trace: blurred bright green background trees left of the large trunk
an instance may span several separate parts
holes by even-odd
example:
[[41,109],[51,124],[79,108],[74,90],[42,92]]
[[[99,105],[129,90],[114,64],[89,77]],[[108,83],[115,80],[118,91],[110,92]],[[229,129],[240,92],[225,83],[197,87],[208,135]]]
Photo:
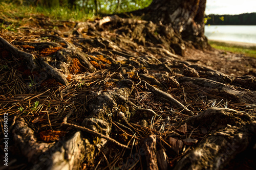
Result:
[[67,7],[69,9],[82,9],[88,13],[111,14],[145,8],[151,4],[152,0],[0,0],[0,2],[18,3],[44,8]]

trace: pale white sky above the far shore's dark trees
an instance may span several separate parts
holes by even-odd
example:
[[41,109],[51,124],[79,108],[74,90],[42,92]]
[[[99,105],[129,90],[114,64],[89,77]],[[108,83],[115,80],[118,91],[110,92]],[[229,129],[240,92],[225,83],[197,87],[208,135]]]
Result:
[[242,14],[256,12],[255,0],[207,0],[205,14]]

